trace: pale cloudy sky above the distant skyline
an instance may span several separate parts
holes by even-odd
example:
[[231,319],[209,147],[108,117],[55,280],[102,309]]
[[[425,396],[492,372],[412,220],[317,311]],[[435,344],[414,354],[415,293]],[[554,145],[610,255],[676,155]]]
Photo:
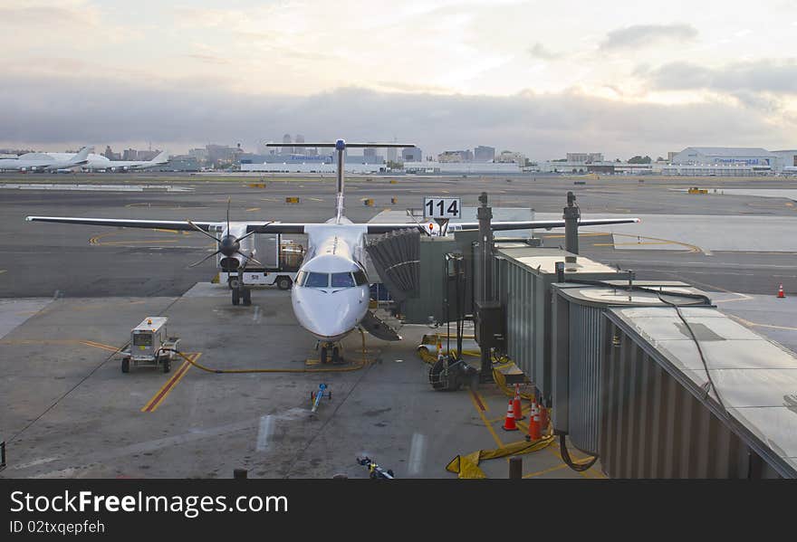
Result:
[[0,147],[797,147],[792,0],[0,0],[0,51]]

